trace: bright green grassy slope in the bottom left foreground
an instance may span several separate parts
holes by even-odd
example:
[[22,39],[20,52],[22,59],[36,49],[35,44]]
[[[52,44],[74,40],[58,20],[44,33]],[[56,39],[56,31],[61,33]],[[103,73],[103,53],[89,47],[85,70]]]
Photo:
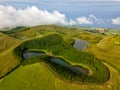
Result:
[[54,75],[36,63],[21,66],[6,76],[0,83],[0,90],[54,90],[54,83]]

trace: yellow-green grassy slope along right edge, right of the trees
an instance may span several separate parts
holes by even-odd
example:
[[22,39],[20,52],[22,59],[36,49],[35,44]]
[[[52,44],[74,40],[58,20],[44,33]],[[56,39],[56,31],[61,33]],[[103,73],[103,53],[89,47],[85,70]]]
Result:
[[109,86],[119,90],[120,84],[120,36],[105,36],[97,44],[91,44],[90,51],[107,64],[110,70]]

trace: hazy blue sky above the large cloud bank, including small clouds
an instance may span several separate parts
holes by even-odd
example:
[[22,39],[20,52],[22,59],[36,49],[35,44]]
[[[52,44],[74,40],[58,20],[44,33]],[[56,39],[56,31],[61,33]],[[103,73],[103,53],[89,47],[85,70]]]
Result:
[[120,27],[120,0],[0,0],[0,5],[19,9],[36,6],[49,13],[59,11],[81,26]]

